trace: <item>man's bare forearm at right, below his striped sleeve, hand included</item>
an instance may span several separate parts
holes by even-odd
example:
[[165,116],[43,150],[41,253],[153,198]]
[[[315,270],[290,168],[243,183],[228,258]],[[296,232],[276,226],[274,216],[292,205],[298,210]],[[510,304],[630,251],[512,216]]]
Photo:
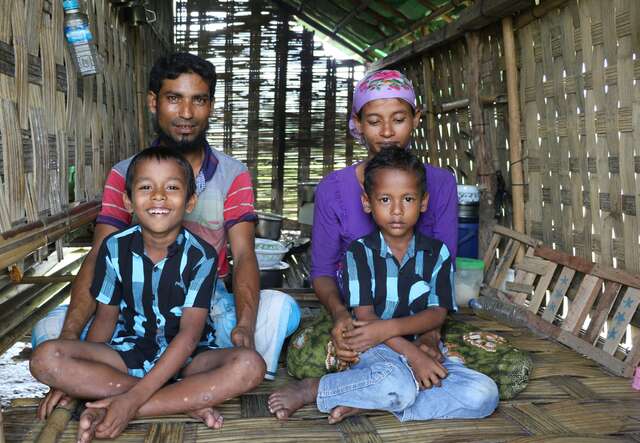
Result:
[[231,332],[235,346],[254,349],[253,335],[260,302],[260,277],[255,251],[255,225],[241,222],[228,230],[233,256],[233,295],[238,323]]

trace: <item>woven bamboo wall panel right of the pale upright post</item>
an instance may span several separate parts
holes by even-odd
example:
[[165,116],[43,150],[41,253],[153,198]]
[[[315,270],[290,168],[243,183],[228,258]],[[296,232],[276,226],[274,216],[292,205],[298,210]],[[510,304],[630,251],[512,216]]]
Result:
[[638,14],[632,0],[571,0],[517,33],[527,232],[635,272]]

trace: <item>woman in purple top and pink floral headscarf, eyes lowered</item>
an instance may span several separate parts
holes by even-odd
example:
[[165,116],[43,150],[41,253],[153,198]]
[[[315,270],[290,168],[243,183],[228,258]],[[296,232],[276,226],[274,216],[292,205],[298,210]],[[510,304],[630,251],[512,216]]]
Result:
[[[354,91],[349,128],[367,148],[367,160],[335,171],[316,190],[313,218],[311,278],[313,287],[334,320],[333,342],[338,357],[354,361],[355,353],[343,345],[342,331],[351,329],[351,315],[345,308],[336,284],[336,272],[349,244],[374,229],[364,212],[360,196],[368,159],[381,149],[408,149],[411,134],[420,122],[411,82],[398,71],[376,71],[358,82]],[[458,239],[458,200],[453,175],[425,164],[429,203],[418,221],[423,234],[443,241],[455,261]],[[433,356],[439,331],[425,338]]]

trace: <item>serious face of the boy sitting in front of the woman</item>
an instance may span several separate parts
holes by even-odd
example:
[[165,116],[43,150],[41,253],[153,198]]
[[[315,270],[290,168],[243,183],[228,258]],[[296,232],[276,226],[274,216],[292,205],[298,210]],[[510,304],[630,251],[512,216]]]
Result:
[[411,237],[428,201],[428,194],[420,195],[415,175],[401,169],[376,171],[371,195],[362,195],[364,211],[373,216],[385,238]]

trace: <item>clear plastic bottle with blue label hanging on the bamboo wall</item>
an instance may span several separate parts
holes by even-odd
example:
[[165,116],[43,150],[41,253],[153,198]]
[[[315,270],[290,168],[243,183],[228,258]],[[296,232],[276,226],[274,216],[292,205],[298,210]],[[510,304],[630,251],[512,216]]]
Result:
[[63,0],[64,35],[80,75],[95,75],[99,71],[98,52],[89,30],[89,18],[80,12],[79,0]]

